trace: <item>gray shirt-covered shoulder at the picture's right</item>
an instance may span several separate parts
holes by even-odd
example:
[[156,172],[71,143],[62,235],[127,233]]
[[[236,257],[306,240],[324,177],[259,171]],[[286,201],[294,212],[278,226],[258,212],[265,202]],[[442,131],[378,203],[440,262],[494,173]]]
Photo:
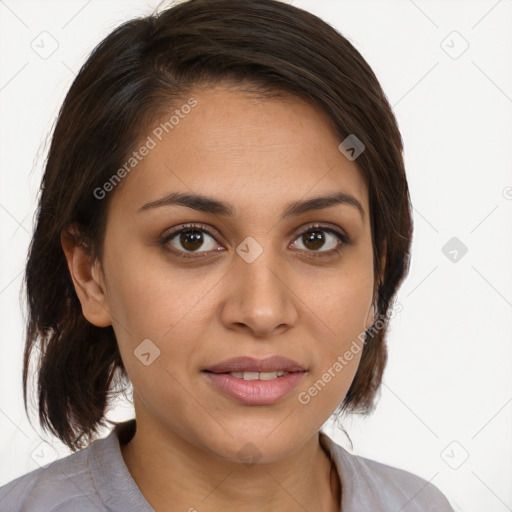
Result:
[[341,473],[343,510],[453,512],[445,495],[431,481],[352,454],[331,439],[328,444]]

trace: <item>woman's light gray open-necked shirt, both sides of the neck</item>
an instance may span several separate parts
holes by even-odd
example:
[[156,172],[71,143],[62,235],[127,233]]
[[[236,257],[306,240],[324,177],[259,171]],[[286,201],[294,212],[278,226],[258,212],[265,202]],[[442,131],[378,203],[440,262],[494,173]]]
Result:
[[[121,454],[134,433],[134,419],[119,423],[104,439],[0,487],[0,512],[154,512]],[[353,455],[323,432],[320,443],[340,477],[341,512],[453,512],[426,480]]]

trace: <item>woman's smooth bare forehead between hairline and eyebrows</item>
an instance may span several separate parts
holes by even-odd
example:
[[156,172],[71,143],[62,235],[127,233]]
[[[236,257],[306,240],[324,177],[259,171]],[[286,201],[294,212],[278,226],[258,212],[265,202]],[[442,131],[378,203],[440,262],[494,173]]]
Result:
[[180,191],[217,197],[238,215],[342,191],[368,211],[363,175],[340,142],[327,114],[295,96],[266,99],[223,85],[193,91],[141,137],[136,147],[150,149],[112,203],[135,209]]

